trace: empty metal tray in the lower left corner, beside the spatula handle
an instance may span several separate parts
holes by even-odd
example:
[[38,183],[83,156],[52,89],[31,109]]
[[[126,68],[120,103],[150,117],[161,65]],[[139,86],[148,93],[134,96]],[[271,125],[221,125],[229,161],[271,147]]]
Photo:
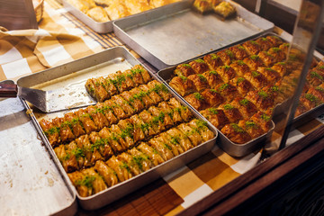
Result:
[[75,214],[76,193],[50,159],[21,100],[0,100],[0,110],[1,214]]

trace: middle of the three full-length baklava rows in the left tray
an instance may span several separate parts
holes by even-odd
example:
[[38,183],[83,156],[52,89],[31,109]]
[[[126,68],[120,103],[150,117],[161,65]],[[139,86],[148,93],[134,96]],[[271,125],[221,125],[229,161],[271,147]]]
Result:
[[148,140],[176,125],[190,121],[193,113],[175,98],[158,103],[128,119],[85,134],[68,144],[54,148],[59,161],[68,172],[94,166],[96,160],[106,160]]

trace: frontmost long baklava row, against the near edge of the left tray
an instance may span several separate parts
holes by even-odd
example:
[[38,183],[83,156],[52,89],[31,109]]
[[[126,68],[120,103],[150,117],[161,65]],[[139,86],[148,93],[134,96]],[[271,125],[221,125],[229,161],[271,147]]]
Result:
[[100,159],[94,167],[67,174],[80,196],[86,197],[139,175],[204,141],[214,138],[204,121],[182,123],[147,142]]

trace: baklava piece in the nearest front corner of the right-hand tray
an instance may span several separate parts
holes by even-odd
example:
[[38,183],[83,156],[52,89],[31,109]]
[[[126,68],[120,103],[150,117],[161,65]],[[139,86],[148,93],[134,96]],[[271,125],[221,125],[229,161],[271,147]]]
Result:
[[252,139],[247,131],[239,127],[236,123],[226,124],[220,132],[222,132],[229,140],[237,144],[244,144]]

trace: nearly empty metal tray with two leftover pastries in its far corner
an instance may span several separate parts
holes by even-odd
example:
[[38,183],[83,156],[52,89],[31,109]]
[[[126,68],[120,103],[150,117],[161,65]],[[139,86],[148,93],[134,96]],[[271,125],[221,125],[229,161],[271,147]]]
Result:
[[115,21],[113,31],[150,64],[163,69],[273,30],[274,23],[229,2],[237,9],[235,19],[198,14],[192,1],[185,1]]

